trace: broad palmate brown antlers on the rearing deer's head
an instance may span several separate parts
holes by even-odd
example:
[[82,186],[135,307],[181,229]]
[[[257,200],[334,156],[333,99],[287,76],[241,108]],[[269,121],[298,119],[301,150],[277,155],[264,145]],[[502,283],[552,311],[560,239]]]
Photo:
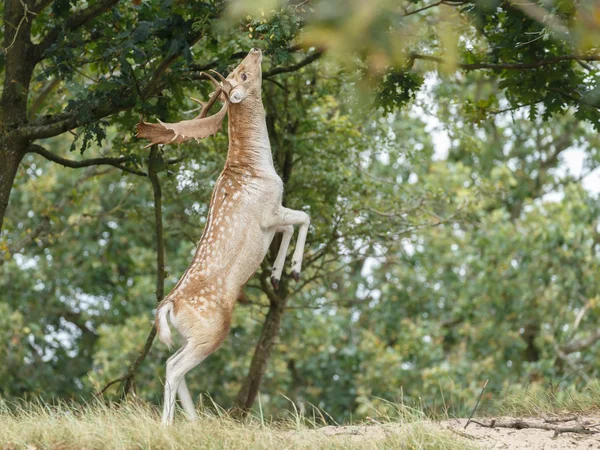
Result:
[[[218,72],[215,72],[218,73]],[[211,75],[203,73],[212,83],[215,85],[216,90],[210,96],[208,102],[204,103],[200,100],[192,98],[193,101],[202,105],[200,114],[191,120],[182,120],[177,123],[148,123],[140,120],[137,124],[137,137],[148,139],[150,144],[144,148],[150,147],[155,144],[180,144],[190,139],[199,139],[216,134],[221,129],[225,114],[227,114],[227,108],[229,107],[229,91],[231,91],[231,84],[223,78],[221,74],[218,77],[222,80],[219,83]],[[215,104],[217,99],[223,94],[225,101],[223,107],[213,116],[206,117],[208,111]]]

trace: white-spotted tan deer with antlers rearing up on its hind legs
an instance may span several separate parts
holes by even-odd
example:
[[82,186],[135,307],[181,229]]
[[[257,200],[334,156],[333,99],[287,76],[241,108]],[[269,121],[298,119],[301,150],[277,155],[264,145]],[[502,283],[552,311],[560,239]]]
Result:
[[[283,182],[275,172],[261,97],[262,53],[252,49],[227,79],[221,78],[210,101],[192,120],[176,124],[138,124],[138,136],[150,145],[180,143],[215,134],[229,113],[229,151],[212,193],[206,227],[194,260],[156,311],[158,336],[172,345],[168,320],[183,337],[183,346],[167,361],[162,421],[173,423],[175,393],[191,420],[197,418],[185,374],[214,352],[231,324],[236,299],[260,266],[275,233],[283,233],[272,269],[275,289],[287,249],[299,225],[292,277],[299,278],[308,215],[282,206]],[[206,117],[217,98],[221,110]]]

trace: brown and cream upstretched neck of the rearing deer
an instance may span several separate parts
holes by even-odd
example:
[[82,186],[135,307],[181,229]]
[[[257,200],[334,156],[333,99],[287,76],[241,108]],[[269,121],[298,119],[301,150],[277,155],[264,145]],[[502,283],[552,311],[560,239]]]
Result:
[[250,165],[257,171],[275,170],[262,99],[247,98],[229,107],[229,164]]

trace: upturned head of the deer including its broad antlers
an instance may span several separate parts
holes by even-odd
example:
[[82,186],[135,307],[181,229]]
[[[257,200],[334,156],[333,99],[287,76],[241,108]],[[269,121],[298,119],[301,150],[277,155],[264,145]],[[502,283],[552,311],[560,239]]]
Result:
[[[221,129],[230,103],[241,103],[246,98],[260,99],[261,62],[262,52],[260,49],[253,48],[226,79],[218,72],[212,71],[221,80],[220,83],[208,73],[203,73],[213,82],[216,90],[206,103],[192,98],[202,105],[198,116],[177,123],[166,123],[160,120],[158,123],[148,123],[141,120],[137,125],[136,136],[150,141],[150,144],[144,147],[147,148],[155,144],[180,144],[190,139],[199,140],[216,134]],[[213,116],[206,117],[217,99],[223,102],[223,107]]]

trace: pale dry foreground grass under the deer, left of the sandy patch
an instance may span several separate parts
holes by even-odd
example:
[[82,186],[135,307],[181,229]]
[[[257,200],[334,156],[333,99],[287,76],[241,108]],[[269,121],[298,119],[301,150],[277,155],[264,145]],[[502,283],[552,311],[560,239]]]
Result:
[[369,425],[320,427],[297,412],[284,421],[251,416],[234,420],[222,410],[188,422],[178,412],[172,427],[156,407],[126,403],[49,405],[0,403],[2,449],[471,449],[471,441],[399,408]]

